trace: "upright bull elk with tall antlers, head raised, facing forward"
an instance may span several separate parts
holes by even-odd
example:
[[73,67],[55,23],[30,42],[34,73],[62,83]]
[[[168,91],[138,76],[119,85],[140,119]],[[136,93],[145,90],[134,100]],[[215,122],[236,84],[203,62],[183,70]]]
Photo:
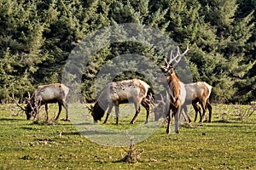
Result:
[[[181,107],[183,105],[186,90],[184,88],[183,82],[180,82],[177,75],[175,74],[174,67],[177,63],[182,59],[183,55],[189,51],[189,45],[183,54],[180,54],[179,48],[177,47],[177,54],[174,56],[171,52],[170,60],[166,60],[166,66],[161,66],[165,73],[165,77],[158,77],[155,82],[159,82],[162,84],[166,84],[167,82],[167,92],[169,95],[168,107],[169,111],[167,111],[166,117],[168,117],[168,125],[166,129],[166,133],[171,133],[171,122],[172,116],[175,116],[175,132],[179,133],[179,117]],[[175,64],[172,65],[172,62],[175,61]]]

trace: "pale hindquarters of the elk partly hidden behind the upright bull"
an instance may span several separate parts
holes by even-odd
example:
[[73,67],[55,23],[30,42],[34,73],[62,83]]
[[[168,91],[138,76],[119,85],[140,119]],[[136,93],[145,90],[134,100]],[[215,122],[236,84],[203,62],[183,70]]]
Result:
[[[184,104],[183,109],[185,110],[186,116],[189,118],[189,122],[191,122],[191,119],[189,117],[187,108],[185,105],[190,105],[192,101],[193,108],[195,110],[195,121],[197,118],[197,114],[199,112],[200,114],[200,124],[203,121],[203,118],[206,114],[207,109],[209,110],[209,120],[208,122],[212,122],[212,105],[209,102],[209,97],[212,91],[212,86],[207,84],[207,82],[192,82],[185,84],[186,88],[186,101]],[[197,103],[201,105],[203,114],[201,115],[201,108]]]

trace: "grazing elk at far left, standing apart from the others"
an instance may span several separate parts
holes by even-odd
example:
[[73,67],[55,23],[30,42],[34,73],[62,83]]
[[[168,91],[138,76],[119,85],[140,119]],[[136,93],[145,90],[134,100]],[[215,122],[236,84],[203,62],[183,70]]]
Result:
[[38,86],[38,89],[29,96],[27,99],[27,105],[25,108],[20,108],[26,112],[26,119],[29,120],[32,116],[36,118],[39,114],[39,109],[42,105],[45,105],[45,112],[46,112],[46,122],[49,120],[48,116],[48,104],[50,103],[58,103],[59,105],[59,112],[56,116],[55,120],[57,120],[61,114],[61,106],[66,110],[66,119],[68,120],[68,106],[66,103],[67,94],[69,88],[67,88],[64,84],[61,83],[53,83],[48,85]]

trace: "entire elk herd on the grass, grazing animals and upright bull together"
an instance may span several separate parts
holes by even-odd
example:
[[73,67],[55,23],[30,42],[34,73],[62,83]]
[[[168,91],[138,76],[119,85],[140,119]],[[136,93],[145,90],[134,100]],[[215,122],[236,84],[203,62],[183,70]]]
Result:
[[[131,120],[131,124],[136,122],[137,116],[141,110],[140,105],[143,105],[147,111],[146,121],[149,122],[149,112],[152,107],[155,121],[158,121],[160,117],[164,117],[167,122],[166,133],[171,133],[172,118],[175,119],[175,132],[179,133],[180,117],[183,115],[186,122],[191,122],[187,105],[192,104],[195,110],[195,121],[197,114],[200,114],[200,125],[206,115],[206,111],[209,111],[208,122],[212,121],[212,106],[209,102],[209,97],[212,91],[212,86],[207,82],[193,82],[185,84],[179,80],[175,73],[175,66],[183,58],[183,55],[189,51],[189,46],[183,54],[180,53],[177,48],[177,54],[171,52],[170,59],[165,59],[166,65],[161,65],[163,76],[157,77],[154,82],[160,83],[165,87],[165,97],[160,94],[160,100],[154,101],[153,94],[149,92],[150,86],[148,83],[139,79],[124,80],[121,82],[110,82],[102,90],[102,93],[96,99],[94,105],[85,105],[90,111],[94,122],[102,120],[105,111],[107,116],[103,123],[108,121],[108,116],[111,111],[115,110],[116,124],[119,124],[119,105],[133,103],[135,106],[135,115]],[[61,83],[53,83],[49,85],[39,86],[37,90],[29,96],[27,99],[26,107],[22,107],[16,102],[16,105],[20,106],[21,110],[26,112],[26,118],[37,118],[39,109],[42,105],[45,106],[46,122],[49,120],[48,116],[48,104],[58,103],[59,111],[55,120],[58,119],[61,113],[61,107],[66,110],[66,119],[68,121],[68,106],[67,106],[67,94],[69,88]],[[201,113],[202,110],[202,113]]]

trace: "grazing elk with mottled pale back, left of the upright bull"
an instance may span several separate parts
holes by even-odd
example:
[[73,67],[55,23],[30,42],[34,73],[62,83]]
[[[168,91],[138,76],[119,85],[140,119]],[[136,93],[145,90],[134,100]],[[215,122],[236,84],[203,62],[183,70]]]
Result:
[[140,105],[147,111],[146,122],[149,122],[149,101],[147,99],[148,88],[150,86],[138,79],[124,80],[121,82],[110,82],[108,86],[102,90],[102,93],[96,100],[96,104],[92,107],[86,106],[93,116],[95,122],[101,121],[105,111],[108,109],[106,119],[111,113],[113,106],[115,108],[116,124],[119,124],[119,105],[126,103],[134,103],[136,113],[130,124],[134,124],[140,112]]

